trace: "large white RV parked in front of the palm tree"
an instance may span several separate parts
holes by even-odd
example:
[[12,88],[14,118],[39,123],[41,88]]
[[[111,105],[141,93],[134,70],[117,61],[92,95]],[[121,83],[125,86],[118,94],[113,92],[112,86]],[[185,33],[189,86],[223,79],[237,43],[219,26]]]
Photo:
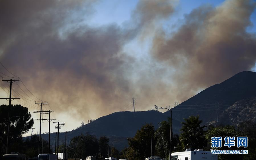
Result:
[[171,160],[218,160],[218,155],[202,149],[186,149],[185,152],[171,153]]

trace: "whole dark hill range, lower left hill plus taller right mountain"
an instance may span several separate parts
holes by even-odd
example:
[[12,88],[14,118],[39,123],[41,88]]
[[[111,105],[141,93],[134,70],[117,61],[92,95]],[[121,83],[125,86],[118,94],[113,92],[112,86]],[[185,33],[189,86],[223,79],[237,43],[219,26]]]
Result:
[[[173,108],[173,133],[179,133],[183,118],[199,115],[204,125],[208,124],[238,124],[240,121],[255,119],[256,73],[244,71],[215,84],[187,101]],[[218,105],[216,104],[218,102]],[[246,104],[246,105],[245,105]],[[218,123],[217,121],[218,106]],[[237,111],[234,111],[237,108]],[[239,114],[237,114],[239,112]],[[146,123],[152,123],[155,129],[158,123],[166,120],[170,112],[154,110],[144,112],[115,112],[75,129],[67,134],[67,142],[81,133],[110,138],[110,144],[122,150],[127,145],[127,137],[133,137],[138,129]],[[237,116],[240,118],[237,119]],[[247,118],[245,118],[247,117]],[[254,118],[253,118],[254,117]],[[47,137],[47,136],[46,136]],[[52,134],[51,143],[55,143]],[[64,133],[60,134],[64,139]]]

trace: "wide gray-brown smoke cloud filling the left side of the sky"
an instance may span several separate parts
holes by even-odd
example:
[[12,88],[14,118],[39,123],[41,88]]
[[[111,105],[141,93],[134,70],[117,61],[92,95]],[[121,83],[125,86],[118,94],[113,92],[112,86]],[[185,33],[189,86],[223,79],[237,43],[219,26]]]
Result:
[[149,28],[149,22],[153,26],[173,12],[165,1],[141,1],[130,25],[92,27],[87,20],[94,5],[1,1],[1,63],[58,113],[83,121],[123,110],[121,105],[140,95],[130,76],[137,60],[123,46]]

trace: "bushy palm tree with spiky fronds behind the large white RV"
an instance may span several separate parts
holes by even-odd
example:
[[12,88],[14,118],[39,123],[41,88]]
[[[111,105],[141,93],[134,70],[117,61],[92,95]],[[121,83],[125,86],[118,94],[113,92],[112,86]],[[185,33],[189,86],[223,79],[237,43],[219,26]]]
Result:
[[198,116],[190,116],[184,118],[185,122],[182,122],[180,142],[183,149],[187,148],[203,148],[204,146],[204,128],[200,127],[202,120],[199,120]]

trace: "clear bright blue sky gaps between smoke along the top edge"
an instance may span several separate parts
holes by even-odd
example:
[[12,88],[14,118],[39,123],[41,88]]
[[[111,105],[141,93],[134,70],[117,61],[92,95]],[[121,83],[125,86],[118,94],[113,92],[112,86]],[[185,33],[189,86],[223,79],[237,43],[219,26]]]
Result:
[[[198,8],[201,5],[211,5],[218,7],[224,1],[223,0],[181,0],[174,1],[177,4],[174,20],[183,19],[184,14],[189,14],[193,9]],[[123,22],[130,20],[131,13],[135,9],[138,1],[99,1],[95,6],[95,14],[92,17],[91,25],[108,25],[115,23],[122,25]],[[251,15],[251,22],[253,26],[248,27],[249,32],[256,31],[256,9]]]

